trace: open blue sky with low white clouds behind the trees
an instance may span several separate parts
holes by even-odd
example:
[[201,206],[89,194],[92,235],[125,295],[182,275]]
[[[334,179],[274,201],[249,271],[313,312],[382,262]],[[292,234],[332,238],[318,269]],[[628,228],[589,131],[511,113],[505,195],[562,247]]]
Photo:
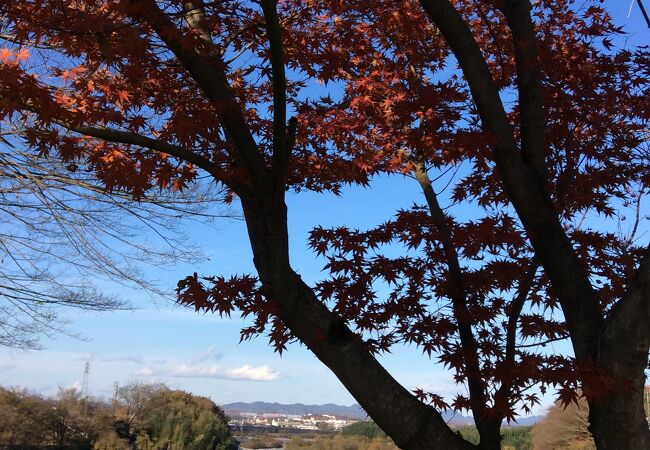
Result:
[[[650,41],[643,18],[627,0],[605,4],[632,34],[630,43]],[[648,5],[650,6],[650,5]],[[373,180],[370,189],[347,188],[342,198],[314,193],[289,195],[292,264],[307,282],[320,277],[321,264],[306,248],[308,231],[316,225],[368,227],[390,217],[400,207],[420,201],[417,185],[400,177]],[[191,225],[190,241],[200,243],[205,257],[198,264],[166,271],[151,270],[152,277],[173,288],[192,272],[232,274],[253,272],[244,223],[221,219],[210,226]],[[42,351],[0,349],[0,385],[24,386],[44,394],[58,387],[80,385],[83,367],[90,361],[89,389],[110,396],[113,383],[134,380],[165,382],[211,397],[217,403],[276,401],[283,403],[352,404],[354,399],[338,380],[308,351],[291,345],[282,357],[261,337],[238,344],[242,321],[196,314],[170,303],[154,303],[132,289],[105,285],[121,294],[134,311],[90,314],[64,313],[70,328],[84,337],[58,336],[44,340]],[[382,363],[406,387],[422,387],[451,395],[451,375],[414,349],[395,349]],[[552,401],[546,397],[535,411]]]

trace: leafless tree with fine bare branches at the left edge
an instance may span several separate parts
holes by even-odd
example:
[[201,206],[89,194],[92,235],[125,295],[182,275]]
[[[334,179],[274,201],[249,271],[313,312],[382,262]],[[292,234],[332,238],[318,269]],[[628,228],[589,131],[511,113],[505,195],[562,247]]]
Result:
[[180,224],[216,217],[208,204],[219,192],[211,186],[199,183],[192,192],[161,191],[134,202],[107,191],[75,164],[2,141],[0,346],[39,348],[43,335],[70,334],[60,316],[63,307],[129,308],[89,280],[165,296],[171,292],[148,280],[142,263],[166,267],[199,257]]

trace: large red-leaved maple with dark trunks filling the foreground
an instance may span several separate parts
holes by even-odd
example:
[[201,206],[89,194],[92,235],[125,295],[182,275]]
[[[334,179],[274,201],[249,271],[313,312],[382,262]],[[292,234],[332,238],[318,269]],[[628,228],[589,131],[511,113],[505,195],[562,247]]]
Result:
[[[238,199],[257,276],[195,274],[181,303],[251,315],[243,337],[267,332],[278,350],[300,340],[400,448],[473,447],[427,402],[471,410],[479,448],[499,448],[502,420],[549,385],[565,402],[582,387],[599,448],[650,445],[650,261],[636,239],[648,53],[615,48],[600,6],[0,8],[0,105],[31,148],[136,199],[199,170]],[[316,82],[329,94],[310,96]],[[412,176],[426,206],[367,231],[315,229],[331,275],[308,286],[289,261],[285,192],[386,172]],[[575,357],[543,348],[567,338]],[[398,343],[439,358],[468,396],[410,393],[375,357]]]

